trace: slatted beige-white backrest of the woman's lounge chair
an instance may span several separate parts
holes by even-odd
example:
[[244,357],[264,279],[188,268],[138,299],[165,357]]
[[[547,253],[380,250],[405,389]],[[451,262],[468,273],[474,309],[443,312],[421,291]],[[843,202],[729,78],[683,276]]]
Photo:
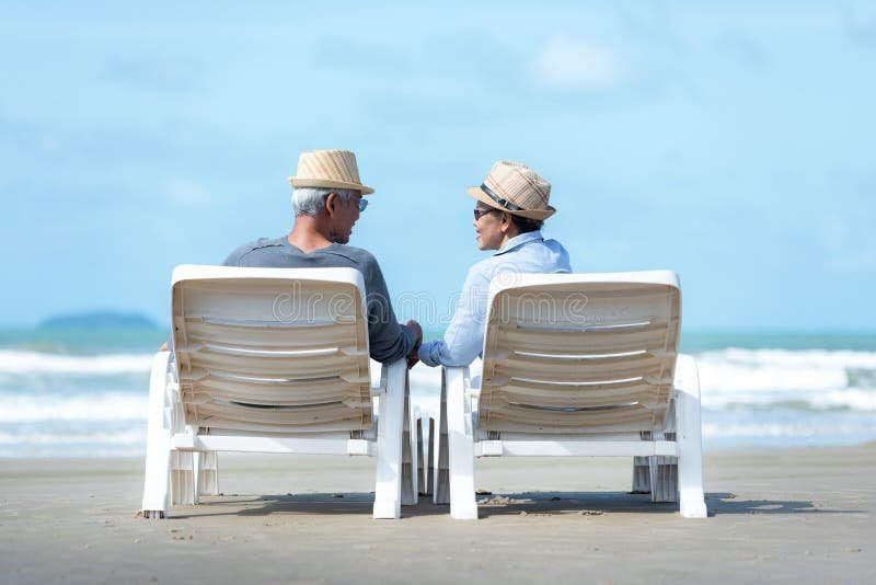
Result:
[[488,307],[479,428],[664,428],[681,321],[673,273],[500,275]]

